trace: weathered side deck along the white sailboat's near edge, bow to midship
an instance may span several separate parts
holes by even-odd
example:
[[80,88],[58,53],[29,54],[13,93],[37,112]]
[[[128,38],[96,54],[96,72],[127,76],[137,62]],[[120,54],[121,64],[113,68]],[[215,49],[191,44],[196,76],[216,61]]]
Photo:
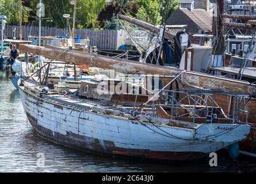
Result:
[[[146,124],[157,124],[161,126],[172,126],[175,124],[179,128],[196,129],[200,127],[200,124],[193,122],[185,122],[180,120],[169,120],[160,117],[151,116],[152,108],[145,106],[143,112],[137,112],[135,115],[133,112],[136,111],[136,107],[133,106],[122,106],[115,105],[111,101],[104,101],[98,99],[87,99],[79,98],[78,96],[72,95],[77,89],[70,89],[70,93],[56,93],[49,92],[47,94],[41,92],[43,87],[33,85],[32,83],[25,83],[25,90],[37,95],[37,97],[43,98],[48,102],[51,102],[57,106],[64,106],[71,110],[78,110],[80,112],[87,111],[91,113],[102,114],[104,116],[114,116],[120,119],[129,119],[138,122],[144,122]],[[23,87],[21,87],[23,88]]]

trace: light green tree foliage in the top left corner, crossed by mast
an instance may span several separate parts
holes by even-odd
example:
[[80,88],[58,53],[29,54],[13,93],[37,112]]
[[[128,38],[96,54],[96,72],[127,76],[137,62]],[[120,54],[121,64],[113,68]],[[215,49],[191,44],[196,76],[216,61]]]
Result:
[[[29,7],[22,6],[22,23],[28,23]],[[0,0],[0,14],[7,17],[7,23],[17,25],[20,20],[20,3],[17,0]]]

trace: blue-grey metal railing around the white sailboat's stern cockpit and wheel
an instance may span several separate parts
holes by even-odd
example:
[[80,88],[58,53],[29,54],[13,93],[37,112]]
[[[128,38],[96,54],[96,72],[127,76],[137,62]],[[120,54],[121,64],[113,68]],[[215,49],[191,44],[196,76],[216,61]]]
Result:
[[232,110],[227,113],[226,108],[215,102],[216,94],[223,91],[209,92],[197,89],[161,90],[158,100],[152,102],[152,116],[194,123],[215,123],[218,120],[232,124],[248,122],[248,95],[232,95]]

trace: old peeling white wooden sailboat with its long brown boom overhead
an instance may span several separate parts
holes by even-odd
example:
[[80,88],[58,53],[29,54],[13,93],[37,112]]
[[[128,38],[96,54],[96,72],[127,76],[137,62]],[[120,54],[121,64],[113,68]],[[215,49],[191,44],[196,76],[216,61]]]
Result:
[[[234,93],[251,94],[255,85],[250,83],[61,48],[22,45],[21,49],[64,62],[116,69],[127,74],[161,72],[170,76],[171,82],[179,78],[208,89],[170,91],[163,87],[157,94],[117,95],[107,87],[104,91],[108,93],[100,95],[96,92],[99,81],[85,81],[79,90],[58,93],[52,89],[45,93],[44,86],[24,82],[20,86],[24,110],[35,131],[49,140],[105,154],[187,160],[234,145],[249,133],[250,126],[244,124],[246,118],[239,116],[240,113],[246,116],[242,107],[234,118],[228,118],[220,113],[221,108],[213,103],[212,106],[204,102],[198,104],[198,99],[202,99],[202,94],[212,96],[209,89],[215,89],[214,93],[234,90]],[[108,86],[111,81],[103,82]],[[232,85],[241,85],[241,88],[234,89]],[[139,91],[144,91],[143,87],[139,87]],[[170,102],[164,97],[168,93],[182,93],[184,97],[179,101],[173,98]],[[161,100],[152,100],[156,96],[161,96]],[[194,105],[186,98],[194,99]]]

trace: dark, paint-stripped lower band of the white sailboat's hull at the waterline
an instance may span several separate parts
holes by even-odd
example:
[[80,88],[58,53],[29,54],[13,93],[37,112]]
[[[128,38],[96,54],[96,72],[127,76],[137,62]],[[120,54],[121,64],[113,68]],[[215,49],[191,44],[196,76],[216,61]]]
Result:
[[[66,145],[82,151],[98,152],[100,154],[131,156],[145,159],[160,159],[160,160],[190,160],[200,159],[206,154],[202,152],[168,152],[168,151],[150,151],[150,150],[135,150],[117,148],[113,143],[108,143],[104,140],[98,140],[87,136],[78,136],[77,134],[70,134],[68,136],[59,132],[53,132],[45,129],[33,121],[33,118],[28,120],[36,133],[44,139],[54,141],[58,144]],[[87,141],[85,141],[87,140]],[[102,144],[103,143],[103,144]],[[107,149],[106,149],[107,148]]]

